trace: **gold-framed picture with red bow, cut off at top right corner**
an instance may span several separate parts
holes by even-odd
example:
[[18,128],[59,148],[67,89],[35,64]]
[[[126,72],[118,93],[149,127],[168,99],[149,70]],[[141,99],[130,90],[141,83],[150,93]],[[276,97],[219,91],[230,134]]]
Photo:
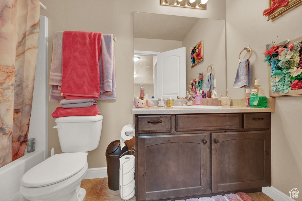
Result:
[[285,12],[301,4],[302,4],[302,0],[283,0],[283,1],[268,0],[268,9],[265,9],[263,11],[263,15],[268,14],[268,20],[275,19],[277,17],[280,17],[281,14],[284,14]]

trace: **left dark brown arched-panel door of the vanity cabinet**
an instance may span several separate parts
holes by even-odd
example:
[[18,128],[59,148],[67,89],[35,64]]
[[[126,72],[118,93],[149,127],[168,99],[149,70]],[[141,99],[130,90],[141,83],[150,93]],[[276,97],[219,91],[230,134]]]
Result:
[[207,191],[207,135],[138,137],[139,200]]

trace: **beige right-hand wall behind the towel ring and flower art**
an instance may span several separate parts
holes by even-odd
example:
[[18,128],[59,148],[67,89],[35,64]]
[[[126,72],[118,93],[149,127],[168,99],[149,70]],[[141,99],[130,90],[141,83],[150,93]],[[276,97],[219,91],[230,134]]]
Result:
[[[245,89],[232,89],[238,66],[238,55],[243,47],[253,50],[250,59],[253,79],[262,80],[268,96],[268,73],[264,59],[265,45],[275,40],[302,36],[302,6],[291,10],[275,21],[266,21],[262,12],[267,1],[228,0],[226,4],[227,87],[232,98],[243,98]],[[243,56],[243,55],[242,55]],[[246,57],[245,57],[246,58]],[[300,97],[276,98],[276,112],[271,114],[272,186],[286,195],[293,188],[302,189],[302,112]],[[302,200],[302,196],[299,196]]]

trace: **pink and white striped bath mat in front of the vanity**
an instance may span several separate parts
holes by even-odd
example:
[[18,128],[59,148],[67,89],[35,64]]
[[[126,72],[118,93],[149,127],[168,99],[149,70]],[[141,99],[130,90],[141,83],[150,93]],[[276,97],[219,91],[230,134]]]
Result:
[[[171,201],[171,200],[167,200],[167,201]],[[217,195],[217,196],[212,196],[212,197],[200,197],[199,199],[198,198],[189,198],[187,200],[178,199],[175,201],[255,201],[255,200],[253,200],[246,193],[239,192],[239,193],[236,193],[236,195],[233,193],[230,193],[230,194],[225,194],[224,196]]]

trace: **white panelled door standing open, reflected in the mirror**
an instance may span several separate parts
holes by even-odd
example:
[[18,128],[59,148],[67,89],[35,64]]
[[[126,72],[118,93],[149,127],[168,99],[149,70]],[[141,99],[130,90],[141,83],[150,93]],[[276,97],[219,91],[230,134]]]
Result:
[[157,54],[154,72],[156,99],[186,95],[186,47]]

